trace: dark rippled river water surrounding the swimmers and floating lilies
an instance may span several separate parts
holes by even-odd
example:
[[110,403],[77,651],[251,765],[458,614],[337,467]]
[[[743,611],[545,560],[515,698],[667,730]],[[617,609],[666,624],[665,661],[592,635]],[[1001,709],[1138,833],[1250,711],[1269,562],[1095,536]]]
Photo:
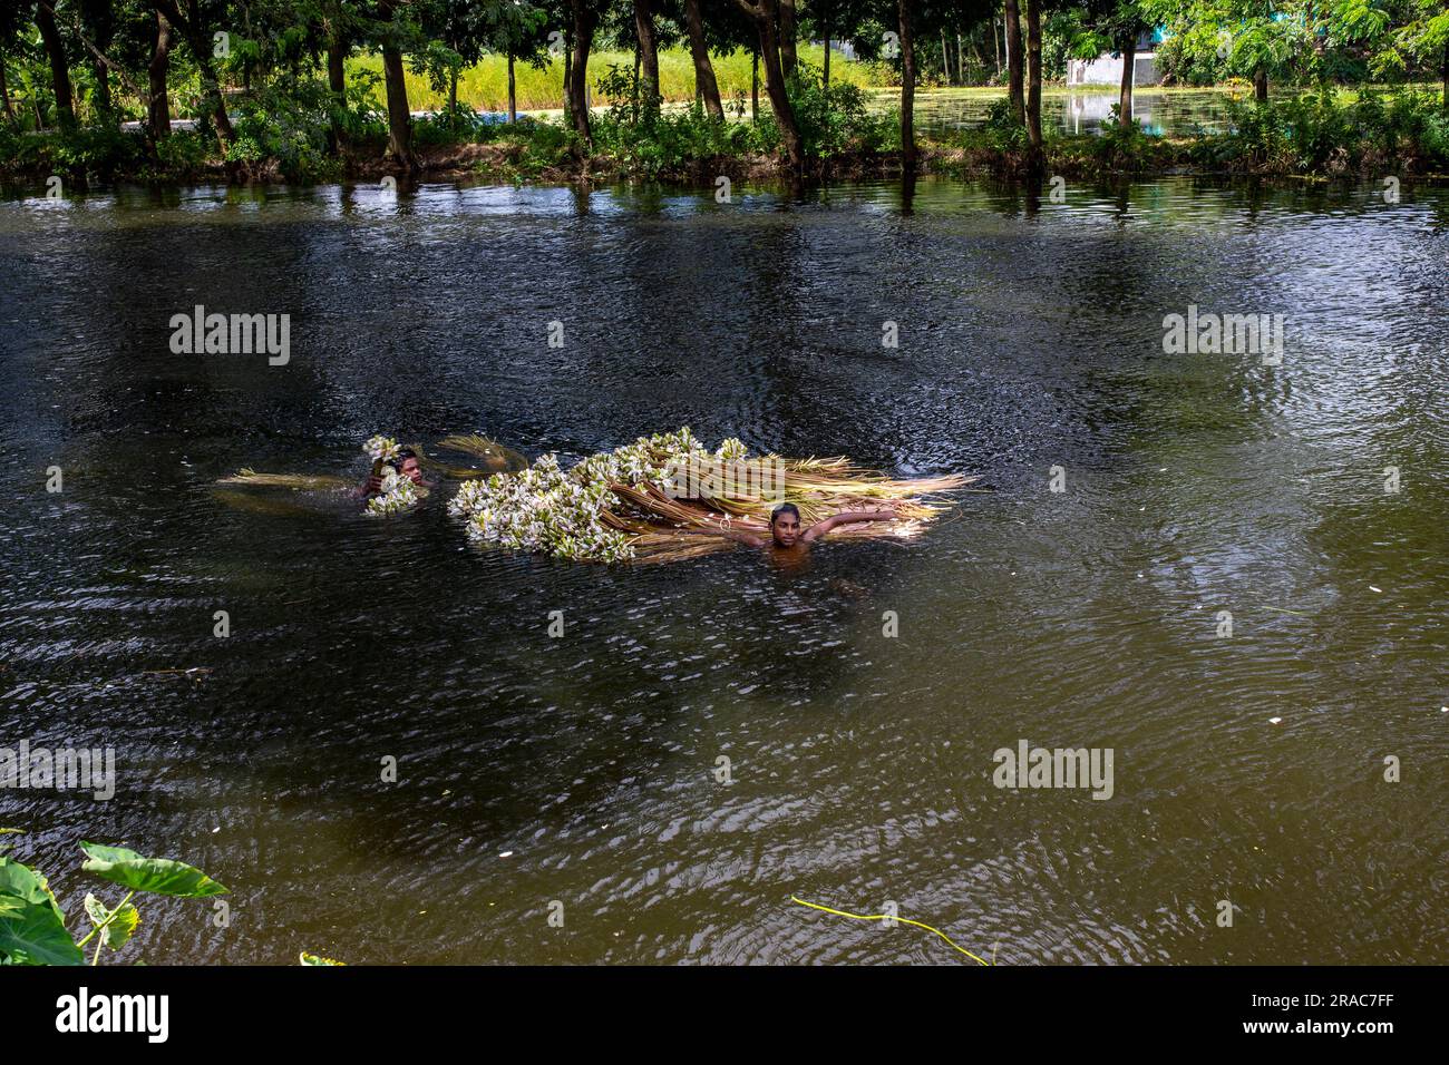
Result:
[[[119,787],[0,824],[77,924],[77,839],[227,884],[227,929],[143,906],[152,964],[962,961],[793,894],[1013,965],[1449,962],[1449,190],[1372,194],[12,190],[0,738]],[[199,303],[290,314],[290,364],[171,354]],[[1188,304],[1285,314],[1282,365],[1164,354]],[[213,488],[685,423],[991,491],[781,572]],[[1020,739],[1116,794],[995,788]]]

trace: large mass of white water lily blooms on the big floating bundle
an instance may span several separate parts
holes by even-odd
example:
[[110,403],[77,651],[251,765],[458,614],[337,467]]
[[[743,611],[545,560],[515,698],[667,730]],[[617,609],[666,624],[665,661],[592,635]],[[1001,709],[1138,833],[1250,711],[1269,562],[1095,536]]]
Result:
[[[743,455],[745,445],[726,440],[720,451],[726,449]],[[568,471],[559,468],[556,455],[543,455],[517,474],[464,481],[448,511],[467,517],[468,535],[477,540],[555,558],[619,562],[633,558],[633,538],[600,520],[601,511],[623,506],[610,485],[659,484],[691,454],[709,456],[685,427],[640,436]]]

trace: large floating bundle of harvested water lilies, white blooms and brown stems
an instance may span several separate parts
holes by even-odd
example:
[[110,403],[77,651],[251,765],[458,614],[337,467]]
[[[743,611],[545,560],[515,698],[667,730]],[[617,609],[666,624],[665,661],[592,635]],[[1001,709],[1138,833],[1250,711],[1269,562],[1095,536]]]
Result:
[[[761,468],[769,474],[732,475]],[[701,469],[704,477],[693,475]],[[943,510],[932,497],[971,480],[893,480],[845,458],[752,456],[738,439],[710,452],[684,427],[640,436],[569,469],[549,454],[517,472],[464,481],[448,509],[485,543],[598,562],[665,561],[727,546],[726,532],[768,539],[769,514],[781,503],[794,503],[806,526],[851,510],[897,516],[842,526],[830,539],[911,538]]]

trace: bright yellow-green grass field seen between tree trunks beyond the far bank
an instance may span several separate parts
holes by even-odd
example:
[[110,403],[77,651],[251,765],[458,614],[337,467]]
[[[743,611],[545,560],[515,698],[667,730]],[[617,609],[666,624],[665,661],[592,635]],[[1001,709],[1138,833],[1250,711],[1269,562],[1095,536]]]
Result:
[[[801,46],[800,58],[813,67],[824,61],[824,49]],[[720,85],[720,96],[729,103],[736,94],[749,97],[749,52],[738,51],[729,55],[711,57],[714,62],[714,77]],[[633,52],[593,52],[588,57],[588,81],[593,87],[598,77],[609,70],[610,64],[619,64],[626,70],[633,70]],[[348,59],[348,70],[369,70],[383,74],[383,58],[380,55],[359,55]],[[548,67],[538,70],[523,62],[513,67],[517,84],[519,110],[556,110],[564,106],[564,61],[552,59]],[[765,106],[764,70],[761,70],[761,106]],[[849,81],[855,85],[881,84],[881,77],[868,64],[849,62],[839,54],[830,57],[830,80],[833,83]],[[685,48],[659,52],[659,91],[665,100],[694,99],[694,64]],[[378,99],[381,101],[381,85]],[[475,110],[501,112],[509,106],[509,65],[501,55],[488,55],[483,62],[469,67],[458,78],[458,100]],[[593,97],[596,104],[607,103],[597,93]],[[409,71],[407,74],[407,104],[414,112],[438,110],[448,103],[448,90],[433,91],[427,78]]]

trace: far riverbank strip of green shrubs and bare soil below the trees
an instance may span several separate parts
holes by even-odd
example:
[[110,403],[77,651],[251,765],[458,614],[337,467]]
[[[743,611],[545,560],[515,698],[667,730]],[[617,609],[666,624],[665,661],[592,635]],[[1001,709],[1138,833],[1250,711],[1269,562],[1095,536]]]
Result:
[[[807,180],[891,177],[904,171],[900,119],[867,106],[858,87],[832,88],[829,100],[798,107]],[[1427,93],[1303,94],[1268,103],[1227,97],[1222,129],[1155,136],[1110,122],[1093,133],[1048,132],[1046,175],[1101,178],[1161,174],[1293,178],[1442,177],[1449,172],[1449,113]],[[238,123],[241,138],[222,158],[204,130],[177,130],[152,145],[139,130],[0,130],[0,175],[35,183],[59,175],[71,187],[138,181],[184,184],[317,184],[339,180],[468,180],[514,184],[652,180],[685,185],[790,177],[772,119],[714,122],[696,109],[632,110],[614,104],[591,114],[582,141],[562,117],[520,117],[459,110],[414,119],[416,168],[387,156],[383,130],[367,129],[338,151],[323,123],[304,135]],[[1033,172],[1026,129],[1006,101],[972,129],[917,136],[922,174],[1026,178]]]

